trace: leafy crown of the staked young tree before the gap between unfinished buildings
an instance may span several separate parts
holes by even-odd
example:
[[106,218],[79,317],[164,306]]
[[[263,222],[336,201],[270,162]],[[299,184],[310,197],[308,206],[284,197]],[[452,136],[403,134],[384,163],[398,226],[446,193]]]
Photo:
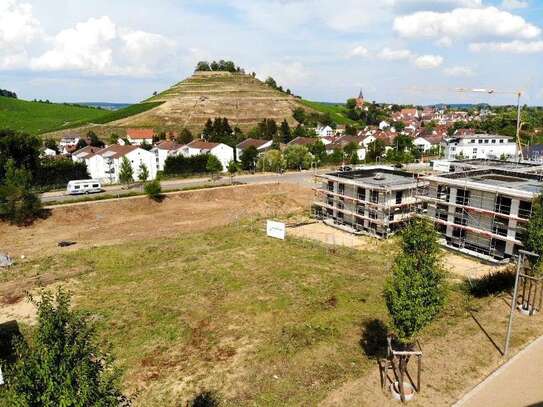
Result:
[[409,345],[443,310],[446,285],[433,223],[414,219],[401,238],[401,252],[385,283],[384,298],[399,342]]

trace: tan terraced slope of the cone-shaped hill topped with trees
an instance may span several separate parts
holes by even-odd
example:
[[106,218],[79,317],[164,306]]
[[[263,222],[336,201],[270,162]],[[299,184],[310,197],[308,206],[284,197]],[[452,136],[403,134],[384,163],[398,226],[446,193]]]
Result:
[[264,118],[277,122],[286,119],[295,125],[292,111],[304,107],[299,99],[276,91],[250,75],[230,72],[197,72],[145,102],[163,103],[109,125],[199,130],[208,118],[227,117],[232,127],[246,131]]

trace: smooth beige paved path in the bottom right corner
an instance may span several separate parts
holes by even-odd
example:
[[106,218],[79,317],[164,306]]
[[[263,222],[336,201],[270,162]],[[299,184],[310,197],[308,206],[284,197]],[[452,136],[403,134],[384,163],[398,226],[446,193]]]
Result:
[[543,337],[538,338],[454,407],[543,405]]

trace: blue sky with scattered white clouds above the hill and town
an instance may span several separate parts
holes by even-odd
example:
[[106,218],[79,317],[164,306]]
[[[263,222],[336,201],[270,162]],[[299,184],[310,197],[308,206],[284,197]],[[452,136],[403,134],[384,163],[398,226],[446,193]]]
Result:
[[138,102],[213,59],[317,101],[543,105],[543,0],[0,0],[23,99]]

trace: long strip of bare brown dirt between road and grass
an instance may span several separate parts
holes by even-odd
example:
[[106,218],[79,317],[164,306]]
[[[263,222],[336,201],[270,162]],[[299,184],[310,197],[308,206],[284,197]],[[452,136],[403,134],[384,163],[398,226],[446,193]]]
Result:
[[[287,184],[244,185],[181,192],[157,203],[147,197],[55,208],[32,227],[0,224],[0,251],[14,258],[49,255],[93,245],[168,237],[251,217],[308,208],[309,189]],[[60,240],[77,244],[59,248]]]

